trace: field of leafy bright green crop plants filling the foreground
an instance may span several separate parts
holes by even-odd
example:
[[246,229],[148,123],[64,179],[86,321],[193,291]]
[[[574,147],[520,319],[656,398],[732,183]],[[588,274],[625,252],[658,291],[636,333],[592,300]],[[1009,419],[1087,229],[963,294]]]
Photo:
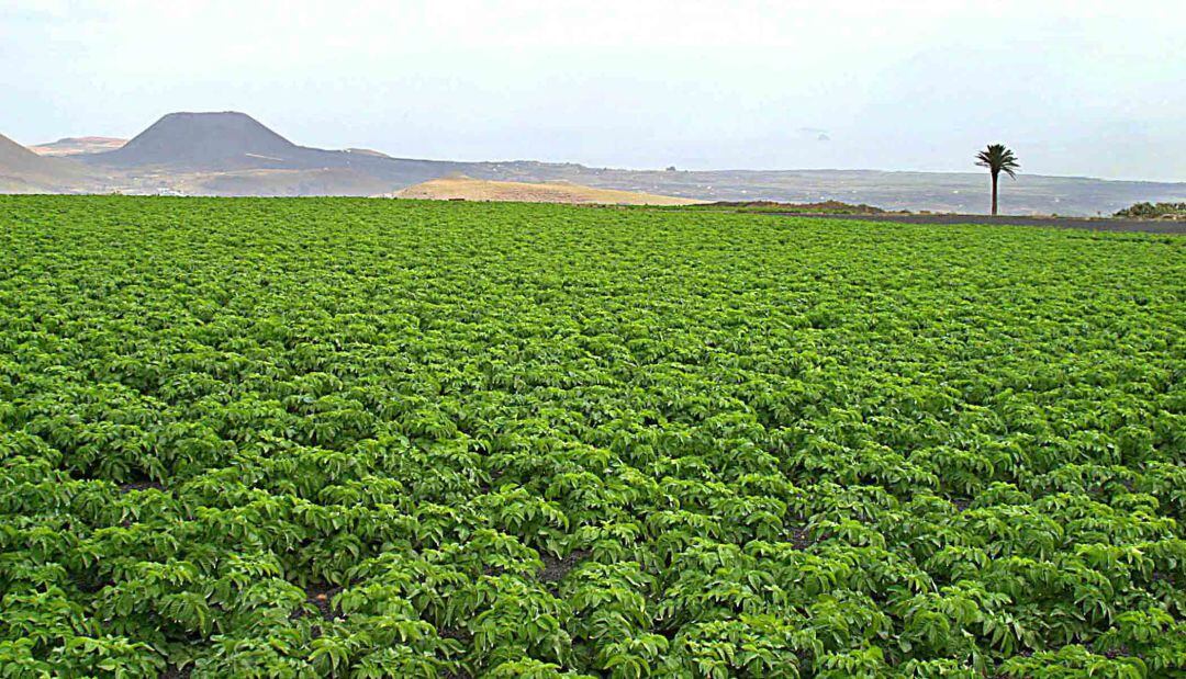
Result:
[[1186,237],[0,197],[0,677],[1186,672]]

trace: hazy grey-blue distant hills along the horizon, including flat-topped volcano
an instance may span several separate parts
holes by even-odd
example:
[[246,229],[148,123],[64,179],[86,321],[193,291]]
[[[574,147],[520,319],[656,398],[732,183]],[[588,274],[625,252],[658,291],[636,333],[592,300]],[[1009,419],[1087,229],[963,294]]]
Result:
[[[82,137],[93,139],[93,137]],[[107,137],[110,139],[110,137]],[[82,145],[42,158],[8,140],[0,191],[185,193],[198,196],[374,196],[465,174],[476,180],[570,182],[694,200],[843,200],[890,210],[982,213],[987,173],[810,171],[643,171],[536,161],[457,162],[393,158],[370,149],[299,146],[236,111],[174,113],[110,150]],[[70,140],[62,140],[64,152]],[[110,146],[116,146],[113,140]],[[75,146],[78,146],[77,143]],[[57,162],[36,164],[30,160]],[[1020,174],[1002,185],[1015,214],[1110,214],[1137,201],[1186,200],[1186,182],[1107,181]]]

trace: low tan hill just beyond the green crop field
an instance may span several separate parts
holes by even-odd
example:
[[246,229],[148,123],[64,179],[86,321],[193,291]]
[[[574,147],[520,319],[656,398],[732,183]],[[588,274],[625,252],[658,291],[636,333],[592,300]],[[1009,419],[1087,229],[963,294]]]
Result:
[[655,196],[635,191],[591,188],[569,182],[529,184],[522,181],[491,181],[465,175],[431,179],[395,193],[396,198],[431,200],[493,200],[519,203],[578,203],[611,205],[690,205],[687,198]]

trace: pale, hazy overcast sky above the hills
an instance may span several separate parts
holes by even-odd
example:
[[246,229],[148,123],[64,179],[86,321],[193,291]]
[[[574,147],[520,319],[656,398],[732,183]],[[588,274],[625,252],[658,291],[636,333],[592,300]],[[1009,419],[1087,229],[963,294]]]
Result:
[[241,110],[401,158],[1186,181],[1181,0],[0,0],[0,134]]

